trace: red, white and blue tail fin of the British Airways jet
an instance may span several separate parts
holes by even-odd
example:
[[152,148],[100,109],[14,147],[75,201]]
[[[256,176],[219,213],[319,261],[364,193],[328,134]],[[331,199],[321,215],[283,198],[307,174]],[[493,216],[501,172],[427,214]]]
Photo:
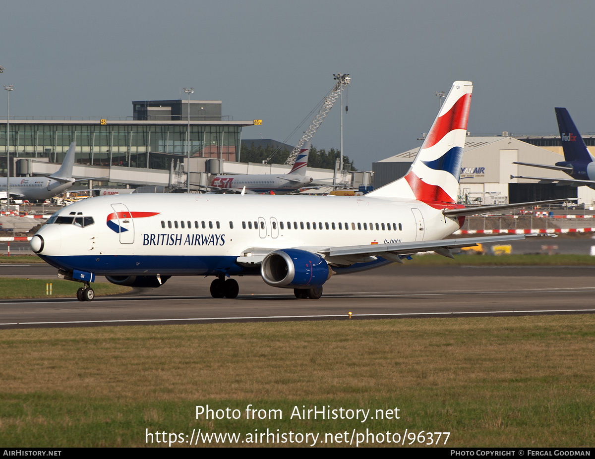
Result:
[[456,203],[472,90],[471,81],[453,83],[409,172],[367,196]]

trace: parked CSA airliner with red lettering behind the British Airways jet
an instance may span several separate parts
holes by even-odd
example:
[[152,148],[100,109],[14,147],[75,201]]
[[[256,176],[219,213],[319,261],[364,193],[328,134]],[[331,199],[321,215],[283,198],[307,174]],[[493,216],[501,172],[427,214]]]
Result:
[[241,191],[244,187],[252,193],[277,194],[290,193],[312,184],[312,177],[306,175],[310,141],[306,142],[293,164],[289,174],[244,174],[244,175],[217,175],[211,182],[211,188],[221,190]]

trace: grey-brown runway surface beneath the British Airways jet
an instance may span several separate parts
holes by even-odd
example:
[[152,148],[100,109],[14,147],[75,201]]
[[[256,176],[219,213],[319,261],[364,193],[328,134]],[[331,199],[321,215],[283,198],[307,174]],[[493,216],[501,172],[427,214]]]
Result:
[[[55,278],[48,265],[0,265],[0,276]],[[0,328],[271,320],[595,313],[595,267],[390,265],[333,276],[320,300],[297,300],[259,277],[237,278],[239,297],[209,295],[212,277],[178,276],[119,297],[0,300]],[[104,278],[100,278],[105,280]]]

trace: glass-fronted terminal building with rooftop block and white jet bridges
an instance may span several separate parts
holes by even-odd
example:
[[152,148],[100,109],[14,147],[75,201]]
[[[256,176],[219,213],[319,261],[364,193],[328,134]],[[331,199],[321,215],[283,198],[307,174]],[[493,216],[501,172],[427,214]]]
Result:
[[[89,178],[89,188],[160,186],[185,191],[188,125],[191,190],[209,184],[209,174],[287,174],[292,168],[238,162],[242,128],[259,122],[233,121],[222,115],[221,100],[137,100],[132,104],[133,116],[123,118],[11,117],[11,177],[53,174],[70,143],[76,142],[73,175]],[[0,126],[6,124],[7,120],[0,120]],[[0,173],[5,177],[6,172],[6,130],[0,128]],[[331,169],[308,168],[308,175],[317,181],[331,183],[333,174]],[[337,183],[357,188],[369,183],[370,176],[370,172],[343,171]]]

